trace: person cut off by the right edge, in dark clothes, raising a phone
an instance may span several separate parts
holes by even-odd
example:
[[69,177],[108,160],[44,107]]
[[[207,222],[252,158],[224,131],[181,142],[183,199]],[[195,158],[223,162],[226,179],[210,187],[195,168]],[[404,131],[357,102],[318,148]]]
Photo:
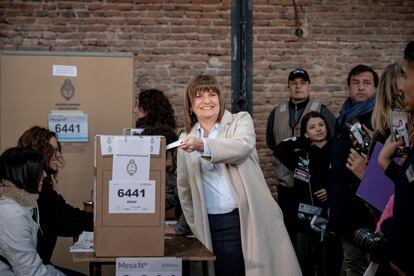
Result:
[[[402,89],[404,91],[404,106],[411,114],[414,113],[414,41],[410,41],[404,50],[404,78]],[[400,166],[393,156],[402,139],[391,141],[388,139],[378,157],[378,163],[384,169],[394,184],[393,217],[385,231],[389,240],[391,266],[394,275],[414,275],[412,254],[414,237],[412,235],[412,222],[414,217],[414,149],[411,148],[404,163]]]

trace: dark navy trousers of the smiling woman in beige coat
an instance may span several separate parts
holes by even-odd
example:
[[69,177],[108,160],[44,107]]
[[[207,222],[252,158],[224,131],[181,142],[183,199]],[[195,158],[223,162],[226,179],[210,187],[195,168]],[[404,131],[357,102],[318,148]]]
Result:
[[227,214],[208,215],[216,276],[245,275],[238,209]]

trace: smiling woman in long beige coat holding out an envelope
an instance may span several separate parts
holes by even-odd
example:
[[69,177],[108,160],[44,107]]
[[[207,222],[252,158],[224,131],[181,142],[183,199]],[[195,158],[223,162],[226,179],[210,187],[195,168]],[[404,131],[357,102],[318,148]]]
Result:
[[200,75],[187,86],[184,120],[178,193],[194,235],[217,257],[216,276],[302,275],[259,166],[250,115],[226,111],[217,80]]

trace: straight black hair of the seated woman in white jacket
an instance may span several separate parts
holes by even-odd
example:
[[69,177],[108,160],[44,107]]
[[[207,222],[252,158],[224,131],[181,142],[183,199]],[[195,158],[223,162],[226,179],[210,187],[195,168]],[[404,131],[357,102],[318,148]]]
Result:
[[38,193],[42,173],[42,155],[30,148],[9,148],[0,156],[1,180],[8,180],[19,189]]

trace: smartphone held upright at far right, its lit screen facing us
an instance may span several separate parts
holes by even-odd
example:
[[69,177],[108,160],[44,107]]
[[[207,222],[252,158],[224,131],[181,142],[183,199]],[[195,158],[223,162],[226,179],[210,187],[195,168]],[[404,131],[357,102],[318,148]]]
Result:
[[398,147],[396,154],[405,155],[410,149],[410,136],[408,129],[408,113],[405,110],[390,110],[391,140],[395,141],[397,136],[401,137],[404,144]]

